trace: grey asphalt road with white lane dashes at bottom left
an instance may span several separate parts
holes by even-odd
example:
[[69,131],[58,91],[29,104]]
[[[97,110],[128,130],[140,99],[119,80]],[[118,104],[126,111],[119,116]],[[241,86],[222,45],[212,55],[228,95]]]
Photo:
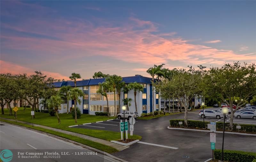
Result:
[[[116,161],[106,155],[89,149],[76,146],[75,144],[50,137],[46,134],[24,129],[7,123],[0,126],[0,149],[9,149],[13,153],[12,161],[19,162],[81,162],[81,161]],[[18,154],[18,152],[21,152]],[[53,155],[44,152],[53,152]],[[59,155],[56,155],[56,153]],[[69,155],[61,155],[69,154]],[[68,153],[67,153],[68,152]],[[24,153],[24,155],[22,155]],[[21,158],[29,156],[29,153],[43,153],[40,158]],[[83,155],[82,155],[83,154]],[[46,156],[44,156],[46,155]],[[20,158],[18,158],[20,156]],[[33,155],[30,155],[33,156]]]

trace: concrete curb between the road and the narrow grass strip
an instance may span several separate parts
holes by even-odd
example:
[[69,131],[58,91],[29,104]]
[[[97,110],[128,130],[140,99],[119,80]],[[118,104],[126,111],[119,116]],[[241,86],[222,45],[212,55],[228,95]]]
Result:
[[[1,121],[1,122],[3,122],[3,121]],[[3,122],[3,123],[6,123],[6,122]],[[35,129],[28,128],[28,127],[23,127],[23,126],[17,125],[17,124],[12,124],[12,123],[8,123],[8,122],[7,122],[7,124],[15,125],[15,126],[17,126],[17,127],[22,127],[22,128],[24,128],[24,129],[27,129],[27,130],[32,130],[32,131],[35,131],[35,132],[39,132],[39,133],[42,133],[42,134],[46,134],[46,135],[48,135],[48,136],[55,137],[55,138],[58,138],[58,139],[60,139],[60,140],[66,141],[66,142],[69,142],[69,143],[72,143],[72,144],[76,144],[76,145],[81,146],[81,147],[83,147],[83,148],[90,149],[90,150],[96,151],[96,152],[100,152],[101,154],[107,155],[107,156],[109,156],[109,157],[111,157],[111,158],[114,158],[114,159],[116,159],[116,160],[118,160],[118,161],[128,162],[128,161],[123,160],[123,159],[121,159],[121,158],[117,158],[117,157],[115,157],[115,156],[113,156],[113,155],[111,155],[111,154],[109,154],[109,153],[107,153],[107,152],[104,152],[104,151],[95,149],[95,148],[90,147],[90,146],[87,146],[87,145],[85,145],[85,144],[80,144],[80,143],[78,143],[78,142],[76,142],[76,141],[72,141],[72,140],[69,140],[69,139],[67,139],[67,138],[59,137],[59,136],[56,136],[56,135],[53,135],[53,134],[50,134],[50,133],[46,133],[46,132],[43,132],[43,131],[40,131],[40,130],[35,130]]]

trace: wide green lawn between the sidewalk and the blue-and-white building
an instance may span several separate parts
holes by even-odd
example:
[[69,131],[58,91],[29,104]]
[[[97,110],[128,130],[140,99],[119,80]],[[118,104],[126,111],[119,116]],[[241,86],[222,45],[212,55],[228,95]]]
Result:
[[[27,108],[25,112],[23,112],[23,108],[19,108],[19,110],[17,111],[17,120],[32,123],[32,117],[31,117],[30,111],[31,111],[31,108]],[[9,116],[9,110],[4,109],[4,115],[1,114],[0,117],[15,119],[14,111],[12,113],[13,115]],[[62,130],[68,130],[68,131],[84,134],[91,137],[105,139],[108,141],[118,140],[121,137],[120,132],[68,127],[70,125],[92,123],[92,122],[97,122],[102,120],[104,121],[108,119],[113,119],[114,117],[81,114],[81,118],[77,119],[77,123],[75,123],[75,119],[72,118],[71,114],[64,113],[64,114],[59,114],[59,116],[60,116],[61,124],[58,124],[57,116],[50,116],[49,113],[35,112],[34,123],[48,126],[48,127],[58,128]],[[141,136],[133,135],[133,136],[129,136],[129,138],[141,139]]]

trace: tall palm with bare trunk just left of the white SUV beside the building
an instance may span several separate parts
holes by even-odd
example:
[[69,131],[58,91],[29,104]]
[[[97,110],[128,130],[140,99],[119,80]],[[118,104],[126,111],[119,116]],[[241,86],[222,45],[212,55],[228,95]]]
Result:
[[116,88],[120,85],[123,84],[122,83],[122,77],[118,76],[116,74],[114,75],[110,75],[108,78],[106,78],[106,81],[108,82],[108,84],[111,85],[111,87],[114,90],[114,101],[115,101],[115,116],[117,115],[117,111],[116,111]]

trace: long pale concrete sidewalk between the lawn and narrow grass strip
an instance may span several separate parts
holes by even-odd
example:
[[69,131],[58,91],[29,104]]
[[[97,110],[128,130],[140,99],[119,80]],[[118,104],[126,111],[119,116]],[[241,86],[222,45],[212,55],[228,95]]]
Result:
[[[8,119],[8,118],[3,118],[3,117],[1,117],[1,118],[4,119],[4,120],[9,120],[9,121],[14,121],[15,122],[14,119]],[[20,120],[17,120],[17,122],[18,123],[24,123],[24,124],[32,125],[32,123],[23,122],[23,121],[20,121]],[[83,135],[83,134],[79,134],[79,133],[75,133],[75,132],[70,132],[70,131],[67,131],[67,130],[61,130],[61,129],[47,127],[47,126],[38,125],[38,124],[34,124],[34,126],[45,128],[45,129],[49,129],[49,130],[54,130],[54,131],[57,131],[57,132],[68,134],[68,135],[73,135],[73,136],[81,137],[81,138],[84,138],[84,139],[88,139],[88,140],[91,140],[91,141],[94,141],[94,142],[98,142],[100,144],[105,144],[105,145],[114,147],[115,149],[117,149],[119,151],[122,151],[124,149],[129,148],[129,146],[123,146],[121,144],[116,144],[116,143],[113,143],[113,142],[110,142],[110,141],[107,141],[107,140],[104,140],[104,139],[95,138],[95,137],[91,137],[91,136],[86,136],[86,135]]]

